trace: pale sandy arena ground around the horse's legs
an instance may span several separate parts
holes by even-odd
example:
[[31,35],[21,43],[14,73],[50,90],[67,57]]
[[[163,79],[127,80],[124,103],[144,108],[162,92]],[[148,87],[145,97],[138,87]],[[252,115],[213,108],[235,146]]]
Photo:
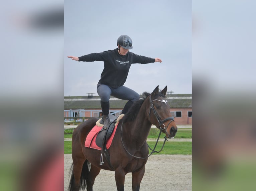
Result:
[[[65,191],[68,190],[71,154],[64,154]],[[146,163],[141,191],[186,191],[192,190],[192,155],[152,155]],[[113,171],[101,170],[93,186],[95,191],[116,190]],[[132,190],[132,175],[125,176],[125,190]]]

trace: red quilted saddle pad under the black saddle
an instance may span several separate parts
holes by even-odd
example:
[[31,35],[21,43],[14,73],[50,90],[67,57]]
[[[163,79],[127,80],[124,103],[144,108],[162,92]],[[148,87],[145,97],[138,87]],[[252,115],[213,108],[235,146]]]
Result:
[[[118,125],[118,123],[117,123]],[[112,140],[114,138],[114,135],[116,133],[116,128],[117,128],[117,125],[115,126],[114,130],[113,130],[113,133],[111,134],[111,136],[109,137],[109,139],[107,140],[107,149],[109,149],[111,143],[112,143]],[[101,147],[99,147],[98,145],[96,145],[96,136],[97,134],[99,133],[99,131],[102,129],[102,127],[99,127],[97,125],[95,125],[92,130],[89,132],[89,134],[87,135],[86,137],[86,140],[85,140],[85,147],[88,147],[88,148],[93,148],[93,149],[97,149],[97,150],[101,150]]]

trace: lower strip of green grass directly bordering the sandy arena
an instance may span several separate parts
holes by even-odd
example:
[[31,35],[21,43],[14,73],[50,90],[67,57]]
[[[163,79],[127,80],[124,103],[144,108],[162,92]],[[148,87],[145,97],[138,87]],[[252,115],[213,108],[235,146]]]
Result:
[[[151,148],[154,148],[155,142],[148,142]],[[159,151],[162,147],[163,142],[158,142],[156,151]],[[64,141],[64,154],[72,153],[72,141]],[[160,153],[154,154],[192,154],[192,142],[171,142],[166,141],[163,150]]]

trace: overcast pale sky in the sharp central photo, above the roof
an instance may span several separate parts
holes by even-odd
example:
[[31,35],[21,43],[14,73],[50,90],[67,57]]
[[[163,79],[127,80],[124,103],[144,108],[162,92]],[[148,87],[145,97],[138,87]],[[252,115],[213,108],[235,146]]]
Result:
[[97,94],[103,62],[82,56],[117,48],[120,35],[133,41],[131,52],[162,63],[133,64],[124,86],[137,93],[166,85],[174,94],[191,94],[191,1],[65,1],[64,96]]

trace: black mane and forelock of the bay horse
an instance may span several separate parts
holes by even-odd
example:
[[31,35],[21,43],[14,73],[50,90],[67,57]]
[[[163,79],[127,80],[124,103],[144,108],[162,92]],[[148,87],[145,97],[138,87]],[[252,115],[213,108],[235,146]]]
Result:
[[[124,117],[123,117],[123,119],[122,119],[122,121],[125,123],[125,122],[128,122],[128,121],[133,121],[135,118],[136,118],[136,116],[137,116],[137,114],[138,114],[138,112],[139,112],[139,110],[140,110],[140,107],[141,107],[141,105],[142,105],[142,103],[146,100],[146,98],[149,96],[150,94],[149,93],[147,93],[147,92],[143,92],[143,94],[142,94],[142,97],[140,97],[140,99],[139,100],[137,100],[137,101],[135,101],[133,104],[132,104],[132,106],[129,108],[129,110],[128,110],[128,112],[124,115]],[[162,96],[162,97],[165,97],[163,94],[161,94],[160,92],[158,93],[158,94],[156,94],[156,95],[160,95],[160,96]],[[156,95],[154,95],[154,96],[156,96]]]

